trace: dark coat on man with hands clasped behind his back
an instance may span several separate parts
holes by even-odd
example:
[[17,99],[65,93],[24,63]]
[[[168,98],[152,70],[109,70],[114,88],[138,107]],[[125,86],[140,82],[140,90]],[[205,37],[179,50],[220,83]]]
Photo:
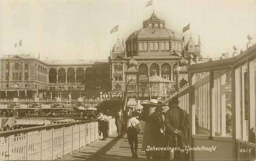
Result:
[[165,139],[166,146],[176,147],[175,129],[182,130],[181,136],[177,135],[178,147],[184,148],[189,145],[188,129],[189,129],[189,115],[179,106],[173,106],[166,112],[165,115]]

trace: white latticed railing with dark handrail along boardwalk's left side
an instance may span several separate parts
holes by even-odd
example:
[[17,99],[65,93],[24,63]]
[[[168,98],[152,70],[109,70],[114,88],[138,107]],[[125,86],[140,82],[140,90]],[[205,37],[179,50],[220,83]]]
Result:
[[[109,134],[116,131],[115,118]],[[0,132],[0,160],[56,160],[100,139],[96,119]]]

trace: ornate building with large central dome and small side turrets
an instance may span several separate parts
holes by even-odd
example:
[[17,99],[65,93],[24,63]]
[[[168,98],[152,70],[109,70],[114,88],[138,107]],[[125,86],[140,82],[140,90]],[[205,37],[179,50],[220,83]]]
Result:
[[[184,49],[181,35],[166,28],[165,20],[159,19],[154,11],[148,20],[142,22],[142,26],[141,30],[128,36],[125,45],[122,46],[117,40],[111,50],[109,62],[113,96],[124,96],[129,64],[133,64],[133,70],[139,72],[139,99],[147,99],[150,95],[153,98],[165,97],[176,90],[174,64],[181,59]],[[185,49],[188,55],[198,55],[191,37]]]

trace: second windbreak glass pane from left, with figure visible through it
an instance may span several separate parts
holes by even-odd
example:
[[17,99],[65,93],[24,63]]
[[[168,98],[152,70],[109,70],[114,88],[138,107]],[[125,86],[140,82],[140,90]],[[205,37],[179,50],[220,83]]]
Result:
[[231,70],[214,71],[212,110],[215,136],[232,137]]

